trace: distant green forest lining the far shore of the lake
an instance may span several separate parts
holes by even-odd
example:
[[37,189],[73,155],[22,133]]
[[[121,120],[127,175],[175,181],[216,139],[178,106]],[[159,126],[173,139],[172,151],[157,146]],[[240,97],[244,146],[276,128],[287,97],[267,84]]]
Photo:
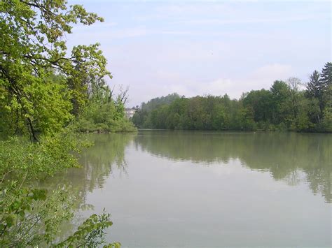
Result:
[[309,82],[276,80],[240,99],[170,94],[141,103],[132,122],[141,129],[332,131],[332,63]]

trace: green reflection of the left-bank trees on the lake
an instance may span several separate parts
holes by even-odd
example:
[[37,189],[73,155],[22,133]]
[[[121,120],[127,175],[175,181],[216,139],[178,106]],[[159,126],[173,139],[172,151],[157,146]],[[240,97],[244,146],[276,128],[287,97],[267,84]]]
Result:
[[70,168],[48,180],[39,182],[40,187],[55,189],[59,185],[71,188],[76,198],[76,207],[92,207],[85,204],[88,192],[102,188],[105,180],[117,170],[126,174],[125,147],[130,144],[136,133],[91,134],[84,137],[91,147],[79,154],[81,168]]

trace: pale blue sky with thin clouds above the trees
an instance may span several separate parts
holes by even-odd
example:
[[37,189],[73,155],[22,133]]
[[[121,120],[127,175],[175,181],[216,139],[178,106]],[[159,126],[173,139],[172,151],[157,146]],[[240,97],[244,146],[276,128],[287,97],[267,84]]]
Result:
[[181,96],[269,89],[307,82],[331,61],[332,1],[69,0],[104,17],[76,25],[69,47],[100,43],[113,78],[129,87],[127,106]]

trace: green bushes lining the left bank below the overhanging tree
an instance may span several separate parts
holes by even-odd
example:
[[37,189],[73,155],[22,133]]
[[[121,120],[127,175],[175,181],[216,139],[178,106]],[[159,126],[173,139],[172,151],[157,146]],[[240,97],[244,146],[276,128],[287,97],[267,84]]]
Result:
[[[74,217],[74,196],[70,189],[35,189],[35,180],[78,166],[69,151],[78,151],[79,143],[70,133],[28,143],[18,138],[0,142],[0,245],[27,247],[57,246],[60,225]],[[83,145],[83,144],[81,144]],[[59,247],[104,243],[104,230],[111,226],[109,214],[92,215]]]

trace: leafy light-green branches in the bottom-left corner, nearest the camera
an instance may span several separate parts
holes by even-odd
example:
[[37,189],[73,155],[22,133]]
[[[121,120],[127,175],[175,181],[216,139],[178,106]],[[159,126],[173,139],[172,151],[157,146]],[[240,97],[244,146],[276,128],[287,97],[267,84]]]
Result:
[[[0,200],[1,247],[98,247],[105,243],[105,229],[112,225],[109,214],[92,214],[73,235],[59,242],[61,224],[74,217],[74,198],[67,189],[48,193],[13,182],[1,188]],[[120,243],[107,247],[120,247]]]

